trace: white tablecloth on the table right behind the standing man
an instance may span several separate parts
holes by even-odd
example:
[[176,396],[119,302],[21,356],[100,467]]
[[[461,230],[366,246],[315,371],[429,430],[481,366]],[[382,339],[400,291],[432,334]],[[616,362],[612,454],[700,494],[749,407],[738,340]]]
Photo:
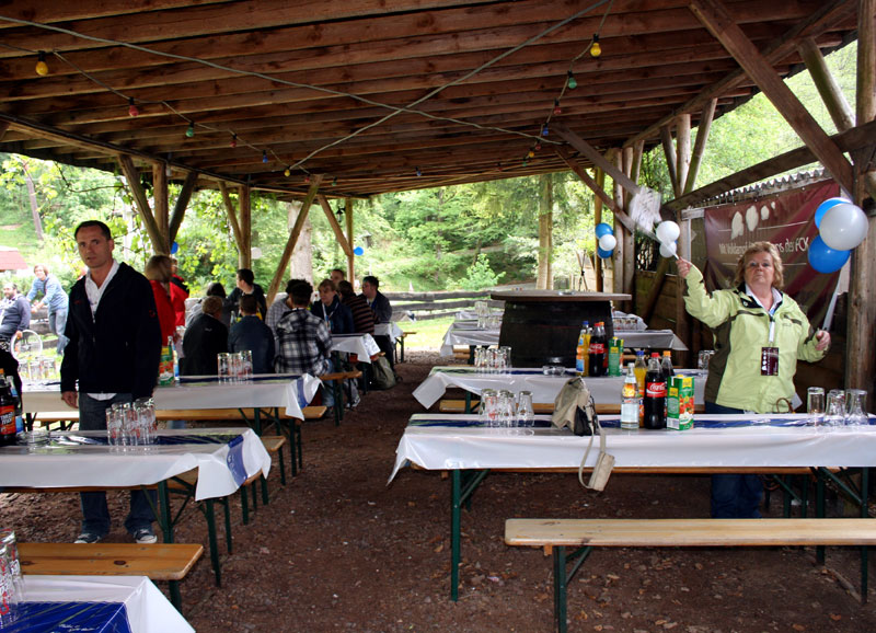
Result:
[[[155,408],[250,408],[278,406],[286,414],[303,418],[301,408],[307,406],[316,393],[321,381],[310,375],[257,375],[252,382],[220,383],[216,377],[182,378],[178,384],[159,387],[153,393]],[[60,384],[24,384],[25,413],[41,411],[64,411]]]

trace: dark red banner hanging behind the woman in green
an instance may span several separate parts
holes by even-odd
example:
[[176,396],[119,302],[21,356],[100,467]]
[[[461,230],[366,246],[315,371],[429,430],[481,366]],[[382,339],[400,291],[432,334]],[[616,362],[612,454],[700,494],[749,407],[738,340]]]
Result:
[[839,186],[828,181],[739,205],[706,208],[706,288],[729,288],[742,253],[754,242],[772,242],[782,254],[783,290],[800,304],[812,325],[821,325],[840,274],[816,272],[809,265],[808,251],[818,235],[814,221],[818,205],[838,195]]

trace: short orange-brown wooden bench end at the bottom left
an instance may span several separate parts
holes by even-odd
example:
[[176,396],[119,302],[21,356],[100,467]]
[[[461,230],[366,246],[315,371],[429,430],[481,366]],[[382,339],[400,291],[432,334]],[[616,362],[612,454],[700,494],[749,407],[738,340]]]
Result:
[[51,576],[149,576],[168,580],[171,602],[182,611],[178,582],[204,554],[185,543],[19,543],[24,574]]

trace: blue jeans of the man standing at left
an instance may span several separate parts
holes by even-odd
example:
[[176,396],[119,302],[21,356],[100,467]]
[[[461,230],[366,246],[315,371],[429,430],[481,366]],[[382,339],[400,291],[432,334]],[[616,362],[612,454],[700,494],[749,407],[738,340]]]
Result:
[[[106,430],[106,410],[116,402],[131,402],[130,393],[116,393],[111,400],[95,400],[85,393],[79,394],[79,429]],[[110,509],[106,493],[80,493],[82,506],[82,531],[105,537],[110,532]],[[151,498],[151,503],[150,503]],[[152,529],[155,514],[155,491],[131,491],[130,511],[125,519],[125,529],[134,534],[139,529]]]

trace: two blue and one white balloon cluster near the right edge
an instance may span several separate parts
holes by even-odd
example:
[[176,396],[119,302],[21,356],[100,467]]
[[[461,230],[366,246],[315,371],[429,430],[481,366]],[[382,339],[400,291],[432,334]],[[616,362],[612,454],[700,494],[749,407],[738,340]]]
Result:
[[809,244],[809,264],[819,273],[835,273],[852,249],[867,237],[867,216],[845,198],[828,198],[815,211],[818,237]]

